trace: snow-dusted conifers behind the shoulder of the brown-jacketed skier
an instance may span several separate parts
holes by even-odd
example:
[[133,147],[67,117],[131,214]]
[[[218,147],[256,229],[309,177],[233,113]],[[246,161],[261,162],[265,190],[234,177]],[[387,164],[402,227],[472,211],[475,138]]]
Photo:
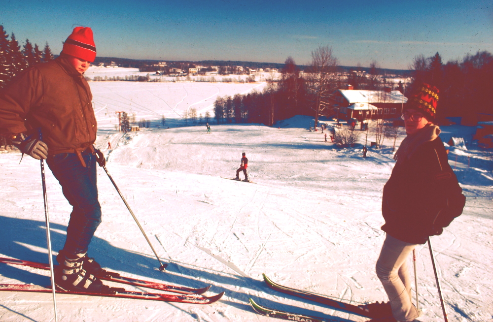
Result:
[[29,39],[26,39],[21,49],[13,32],[10,39],[8,38],[9,35],[0,25],[0,88],[5,87],[12,78],[28,67],[49,62],[54,58],[48,42],[41,51],[38,45],[33,46]]

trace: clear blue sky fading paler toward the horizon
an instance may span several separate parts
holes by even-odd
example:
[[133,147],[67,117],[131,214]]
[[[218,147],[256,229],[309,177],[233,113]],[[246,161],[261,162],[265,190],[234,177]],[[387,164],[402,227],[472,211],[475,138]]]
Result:
[[318,46],[341,65],[407,69],[493,53],[493,1],[58,1],[1,0],[0,24],[56,54],[76,26],[91,27],[98,56],[308,64]]

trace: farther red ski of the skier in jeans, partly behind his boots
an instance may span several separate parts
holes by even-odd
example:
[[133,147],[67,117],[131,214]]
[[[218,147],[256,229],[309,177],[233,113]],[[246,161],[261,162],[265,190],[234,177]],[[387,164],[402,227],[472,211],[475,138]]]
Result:
[[[29,266],[29,267],[40,268],[40,269],[45,269],[45,270],[50,269],[49,264],[38,263],[35,261],[29,261],[29,260],[15,259],[15,258],[2,258],[2,257],[0,257],[0,263]],[[211,286],[207,286],[207,287],[201,288],[201,289],[193,289],[193,288],[187,288],[187,287],[183,287],[183,286],[161,284],[161,283],[155,283],[155,282],[151,282],[151,281],[143,281],[143,280],[138,280],[138,279],[131,278],[131,277],[120,276],[120,274],[118,274],[118,273],[106,271],[106,270],[105,270],[105,275],[98,276],[98,278],[101,280],[109,281],[109,282],[128,284],[128,285],[139,286],[139,287],[143,287],[143,288],[147,288],[147,289],[163,290],[163,291],[180,293],[180,294],[202,294],[211,288]]]

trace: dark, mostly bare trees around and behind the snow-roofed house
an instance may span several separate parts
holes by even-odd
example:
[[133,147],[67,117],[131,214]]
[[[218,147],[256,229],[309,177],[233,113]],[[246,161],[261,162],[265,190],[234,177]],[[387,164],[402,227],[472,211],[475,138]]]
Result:
[[[218,97],[214,102],[215,120],[220,123],[262,123],[272,126],[295,115],[337,117],[339,103],[335,94],[352,85],[354,90],[383,91],[390,87],[406,97],[425,82],[439,89],[438,122],[447,117],[462,117],[478,121],[478,114],[493,114],[493,55],[478,51],[466,55],[461,62],[442,63],[439,53],[425,58],[415,57],[410,65],[409,84],[390,84],[385,73],[373,61],[368,72],[343,72],[329,46],[319,46],[312,52],[312,62],[302,72],[291,57],[281,69],[281,79],[267,80],[262,93]],[[390,120],[392,121],[392,120]]]

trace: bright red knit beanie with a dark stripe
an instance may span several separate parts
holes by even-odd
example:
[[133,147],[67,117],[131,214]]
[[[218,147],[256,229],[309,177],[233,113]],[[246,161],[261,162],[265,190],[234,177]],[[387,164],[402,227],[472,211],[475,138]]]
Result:
[[74,56],[87,62],[94,62],[96,45],[91,28],[75,27],[63,44],[62,54]]

